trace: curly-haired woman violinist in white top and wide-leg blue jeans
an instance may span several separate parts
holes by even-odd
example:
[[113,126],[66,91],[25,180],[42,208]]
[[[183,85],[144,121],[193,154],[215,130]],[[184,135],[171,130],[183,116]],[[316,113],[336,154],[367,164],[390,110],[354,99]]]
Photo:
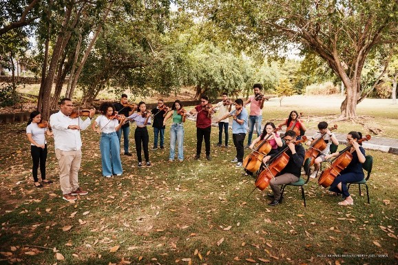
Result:
[[[111,178],[113,175],[121,176],[123,173],[121,162],[121,144],[116,131],[125,124],[125,117],[118,117],[115,107],[110,102],[100,105],[101,115],[92,123],[92,129],[101,133],[100,150],[103,176]],[[118,122],[120,119],[121,123]],[[96,129],[98,125],[99,129]]]

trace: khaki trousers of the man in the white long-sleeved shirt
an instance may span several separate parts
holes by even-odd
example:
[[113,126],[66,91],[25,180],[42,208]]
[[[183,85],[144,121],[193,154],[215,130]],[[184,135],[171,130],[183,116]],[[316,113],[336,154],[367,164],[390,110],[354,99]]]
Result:
[[59,164],[59,184],[62,194],[69,194],[78,188],[78,169],[81,165],[81,149],[76,151],[55,150]]

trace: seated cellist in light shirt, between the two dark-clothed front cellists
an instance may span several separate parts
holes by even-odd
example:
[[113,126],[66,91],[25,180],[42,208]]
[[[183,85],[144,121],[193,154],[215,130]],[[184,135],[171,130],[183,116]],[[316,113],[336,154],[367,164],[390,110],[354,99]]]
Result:
[[339,145],[339,140],[337,140],[335,134],[328,129],[328,123],[326,123],[326,121],[318,123],[318,129],[319,131],[315,133],[314,136],[306,142],[306,144],[311,145],[313,140],[317,140],[324,135],[323,139],[326,142],[326,148],[317,156],[317,158],[315,158],[314,171],[311,173],[310,178],[315,178],[317,176],[317,171],[321,167],[321,162],[324,162],[325,156],[330,152],[332,142],[335,145]]

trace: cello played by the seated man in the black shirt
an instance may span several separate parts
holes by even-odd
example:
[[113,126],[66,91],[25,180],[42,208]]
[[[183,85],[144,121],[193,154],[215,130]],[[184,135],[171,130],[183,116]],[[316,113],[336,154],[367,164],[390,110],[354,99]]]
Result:
[[[295,145],[305,142],[306,140],[306,136],[302,136],[301,140],[295,141]],[[269,180],[275,178],[275,176],[277,176],[289,163],[289,156],[286,153],[288,149],[289,147],[284,148],[280,153],[274,156],[273,159],[269,160],[268,163],[271,164],[258,175],[257,180],[255,180],[255,187],[260,189],[260,191],[264,191],[264,189],[269,186]]]

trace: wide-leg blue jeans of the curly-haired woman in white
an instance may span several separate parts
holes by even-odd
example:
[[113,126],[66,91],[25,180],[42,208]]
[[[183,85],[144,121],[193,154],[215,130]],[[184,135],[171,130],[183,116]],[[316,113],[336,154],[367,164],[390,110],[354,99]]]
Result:
[[121,162],[121,145],[116,132],[102,133],[100,140],[103,176],[123,173]]

